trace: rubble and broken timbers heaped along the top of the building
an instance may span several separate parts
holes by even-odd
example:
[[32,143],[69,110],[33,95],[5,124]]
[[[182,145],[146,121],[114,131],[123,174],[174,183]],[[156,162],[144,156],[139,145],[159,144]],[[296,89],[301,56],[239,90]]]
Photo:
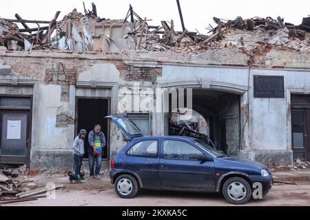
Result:
[[[85,5],[84,5],[85,9]],[[42,21],[48,26],[35,28],[17,28],[12,19],[0,19],[0,50],[56,50],[69,52],[110,52],[111,47],[117,52],[123,50],[165,51],[174,53],[200,54],[209,49],[239,48],[240,50],[259,50],[266,46],[281,47],[282,50],[310,51],[310,17],[304,18],[302,23],[295,26],[285,23],[278,17],[234,20],[218,19],[214,17],[217,26],[207,28],[209,35],[175,30],[174,21],[161,21],[159,26],[149,25],[149,20],[142,19],[132,10],[124,20],[101,19],[97,15],[96,6],[92,3],[92,10],[85,13],[74,9],[56,21],[60,12],[56,12],[52,21]],[[131,17],[131,21],[127,19]],[[136,19],[134,19],[136,17]],[[15,23],[22,22],[20,17]],[[29,21],[34,23],[34,21]],[[126,27],[121,37],[111,36],[114,26]],[[65,26],[60,27],[60,26]],[[97,26],[103,26],[101,32],[95,32]],[[105,30],[105,26],[107,28]],[[56,30],[56,35],[52,34]]]

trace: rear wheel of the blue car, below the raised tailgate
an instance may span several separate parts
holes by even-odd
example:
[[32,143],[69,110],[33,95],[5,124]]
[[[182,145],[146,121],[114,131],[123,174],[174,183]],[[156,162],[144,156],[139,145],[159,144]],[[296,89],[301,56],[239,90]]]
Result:
[[116,179],[114,189],[118,197],[132,199],[138,193],[138,181],[130,174],[123,174]]

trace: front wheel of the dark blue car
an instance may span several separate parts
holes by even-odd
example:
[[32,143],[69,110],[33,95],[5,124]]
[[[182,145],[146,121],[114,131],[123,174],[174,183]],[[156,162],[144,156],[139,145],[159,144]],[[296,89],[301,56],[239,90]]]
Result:
[[225,181],[223,186],[223,195],[231,204],[243,205],[251,199],[251,186],[240,177],[232,177]]

